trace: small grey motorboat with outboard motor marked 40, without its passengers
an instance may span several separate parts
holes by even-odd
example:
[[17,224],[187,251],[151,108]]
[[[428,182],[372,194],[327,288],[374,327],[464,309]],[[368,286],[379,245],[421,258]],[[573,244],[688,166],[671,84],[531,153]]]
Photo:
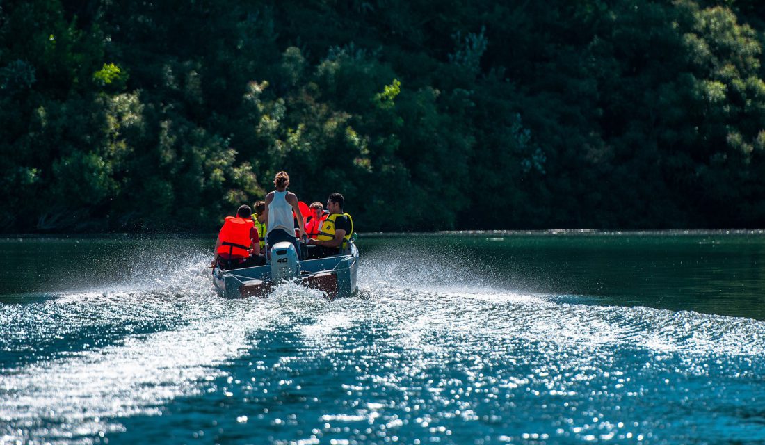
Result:
[[[229,298],[266,297],[275,286],[287,281],[323,291],[329,299],[349,297],[358,291],[359,249],[353,239],[337,255],[302,261],[291,242],[266,247],[265,265],[229,270],[216,265],[213,284],[218,293]],[[301,249],[305,252],[308,246],[301,242]]]

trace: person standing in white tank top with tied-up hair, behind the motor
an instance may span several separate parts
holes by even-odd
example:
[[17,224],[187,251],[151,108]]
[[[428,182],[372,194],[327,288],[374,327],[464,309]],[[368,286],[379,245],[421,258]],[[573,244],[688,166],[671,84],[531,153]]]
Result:
[[292,218],[292,212],[298,216],[298,226],[300,226],[301,238],[305,236],[305,226],[303,214],[298,206],[298,197],[295,193],[288,192],[289,175],[285,171],[280,171],[274,178],[276,190],[265,195],[265,213],[264,218],[267,223],[268,232],[265,235],[265,241],[269,243],[269,248],[277,242],[287,241],[295,245],[300,256],[300,243],[295,238],[295,223]]

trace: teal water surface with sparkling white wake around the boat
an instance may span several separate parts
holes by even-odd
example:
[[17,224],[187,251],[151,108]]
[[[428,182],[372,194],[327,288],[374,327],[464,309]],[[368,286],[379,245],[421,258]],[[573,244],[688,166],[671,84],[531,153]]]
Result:
[[762,232],[362,236],[226,300],[210,239],[0,240],[0,443],[763,443]]

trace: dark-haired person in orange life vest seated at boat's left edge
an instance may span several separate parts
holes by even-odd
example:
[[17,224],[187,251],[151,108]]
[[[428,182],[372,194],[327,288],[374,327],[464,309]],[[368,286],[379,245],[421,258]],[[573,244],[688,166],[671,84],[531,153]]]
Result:
[[240,206],[236,216],[226,216],[215,242],[215,255],[213,267],[220,265],[223,270],[265,264],[249,206]]

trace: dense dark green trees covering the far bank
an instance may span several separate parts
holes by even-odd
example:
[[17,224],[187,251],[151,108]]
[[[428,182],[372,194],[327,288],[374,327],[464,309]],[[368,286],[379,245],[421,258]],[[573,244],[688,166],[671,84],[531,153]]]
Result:
[[0,230],[763,226],[759,2],[0,4]]

